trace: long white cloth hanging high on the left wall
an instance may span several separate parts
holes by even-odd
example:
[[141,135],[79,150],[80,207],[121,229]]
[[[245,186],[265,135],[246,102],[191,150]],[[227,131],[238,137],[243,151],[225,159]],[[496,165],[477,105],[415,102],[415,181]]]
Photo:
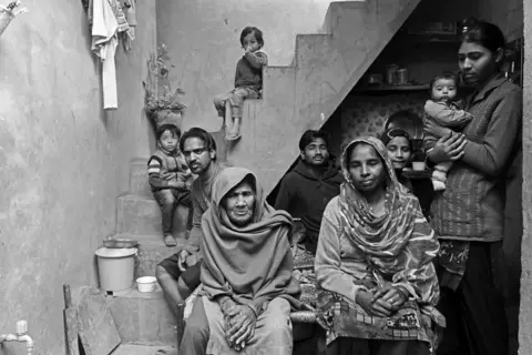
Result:
[[[111,0],[112,1],[112,0]],[[103,108],[119,108],[114,54],[119,38],[119,22],[109,0],[92,0],[92,52],[102,61]],[[115,3],[115,1],[113,1]]]

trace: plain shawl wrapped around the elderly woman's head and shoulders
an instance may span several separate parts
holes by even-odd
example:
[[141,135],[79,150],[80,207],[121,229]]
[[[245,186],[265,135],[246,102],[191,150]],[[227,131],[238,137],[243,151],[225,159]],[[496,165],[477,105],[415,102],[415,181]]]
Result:
[[[253,221],[234,225],[222,205],[227,193],[244,179],[256,192]],[[255,174],[243,168],[223,170],[213,185],[213,204],[202,219],[204,232],[202,283],[214,298],[227,295],[239,304],[283,296],[297,304],[299,283],[293,277],[291,217],[274,210]]]

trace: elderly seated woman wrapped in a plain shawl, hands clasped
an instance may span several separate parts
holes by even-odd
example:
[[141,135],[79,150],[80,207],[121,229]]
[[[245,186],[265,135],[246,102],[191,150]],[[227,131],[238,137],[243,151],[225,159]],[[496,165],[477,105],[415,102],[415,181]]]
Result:
[[186,327],[205,312],[206,354],[291,354],[290,308],[301,306],[291,275],[291,217],[267,204],[247,169],[221,172],[213,200],[202,221],[203,307],[194,305],[180,353],[197,353]]

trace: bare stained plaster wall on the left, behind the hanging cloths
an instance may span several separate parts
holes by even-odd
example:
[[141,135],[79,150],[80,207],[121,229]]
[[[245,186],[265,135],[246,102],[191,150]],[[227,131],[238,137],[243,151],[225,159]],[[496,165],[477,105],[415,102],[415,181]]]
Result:
[[93,252],[114,232],[129,161],[149,153],[142,80],[155,4],[139,1],[133,50],[116,55],[120,109],[108,113],[82,2],[23,6],[30,12],[0,38],[0,334],[27,320],[33,354],[58,355],[62,284],[94,282]]

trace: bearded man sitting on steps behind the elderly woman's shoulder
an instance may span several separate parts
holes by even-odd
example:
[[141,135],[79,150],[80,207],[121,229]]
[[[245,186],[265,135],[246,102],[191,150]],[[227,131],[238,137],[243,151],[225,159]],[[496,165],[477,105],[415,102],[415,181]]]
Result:
[[186,244],[177,253],[163,260],[155,272],[165,300],[175,314],[177,305],[201,283],[198,262],[202,260],[202,215],[211,204],[213,182],[223,170],[216,162],[216,143],[203,129],[192,128],[185,132],[180,149],[185,155],[186,164],[197,175],[192,184],[192,230]]

